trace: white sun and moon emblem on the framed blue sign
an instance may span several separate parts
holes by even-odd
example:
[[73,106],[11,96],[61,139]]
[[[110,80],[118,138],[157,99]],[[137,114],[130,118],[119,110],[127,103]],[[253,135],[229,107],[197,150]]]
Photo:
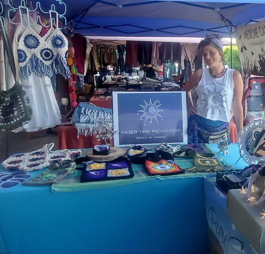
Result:
[[143,113],[140,116],[140,120],[142,121],[145,117],[145,122],[147,120],[150,121],[150,123],[152,124],[153,119],[155,119],[158,122],[157,117],[161,117],[161,120],[163,121],[163,116],[159,113],[159,112],[163,112],[164,110],[159,109],[159,107],[162,104],[159,104],[160,101],[158,99],[155,100],[155,102],[153,103],[151,98],[149,100],[149,103],[147,103],[145,100],[143,100],[145,105],[141,105],[139,104],[143,109],[142,110],[138,110],[138,115],[140,114],[139,112]]

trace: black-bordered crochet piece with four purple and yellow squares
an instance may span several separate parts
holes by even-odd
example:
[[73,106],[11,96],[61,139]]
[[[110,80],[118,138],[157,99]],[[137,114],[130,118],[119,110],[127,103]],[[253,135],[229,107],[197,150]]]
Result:
[[81,182],[117,180],[133,176],[131,163],[121,156],[109,162],[88,162],[83,169]]

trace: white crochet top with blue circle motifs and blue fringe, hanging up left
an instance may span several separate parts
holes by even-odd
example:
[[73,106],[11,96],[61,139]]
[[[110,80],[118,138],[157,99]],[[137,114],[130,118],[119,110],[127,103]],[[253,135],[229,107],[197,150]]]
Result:
[[[59,28],[54,29],[51,26],[44,37],[35,33],[30,26],[20,25],[17,30],[17,57],[21,79],[28,79],[31,74],[50,78],[61,74],[65,79],[70,78],[71,73],[67,66],[68,40]],[[18,39],[19,33],[21,37]]]

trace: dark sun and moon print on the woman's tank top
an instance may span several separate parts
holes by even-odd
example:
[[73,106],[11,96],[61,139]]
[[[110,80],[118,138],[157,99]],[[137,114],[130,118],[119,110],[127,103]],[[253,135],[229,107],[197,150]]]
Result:
[[216,88],[214,87],[213,91],[208,90],[208,93],[203,94],[206,96],[205,99],[202,99],[202,101],[206,102],[207,110],[212,110],[212,114],[215,112],[215,110],[218,110],[220,113],[220,107],[225,109],[224,103],[226,102],[223,98],[226,96],[226,94],[221,94],[223,88],[221,90],[216,91]]

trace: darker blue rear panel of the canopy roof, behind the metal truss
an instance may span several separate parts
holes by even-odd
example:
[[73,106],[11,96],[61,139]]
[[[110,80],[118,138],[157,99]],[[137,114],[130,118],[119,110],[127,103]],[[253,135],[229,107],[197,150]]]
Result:
[[[105,25],[106,23],[108,25]],[[96,27],[95,24],[98,26]],[[162,37],[183,37],[189,34],[193,34],[193,37],[203,37],[206,31],[208,34],[219,32],[223,34],[222,37],[229,37],[227,27],[220,28],[216,24],[201,21],[197,21],[195,25],[191,20],[166,18],[85,17],[77,26],[74,22],[73,27],[76,32],[87,36],[154,36],[155,31],[155,36]]]

